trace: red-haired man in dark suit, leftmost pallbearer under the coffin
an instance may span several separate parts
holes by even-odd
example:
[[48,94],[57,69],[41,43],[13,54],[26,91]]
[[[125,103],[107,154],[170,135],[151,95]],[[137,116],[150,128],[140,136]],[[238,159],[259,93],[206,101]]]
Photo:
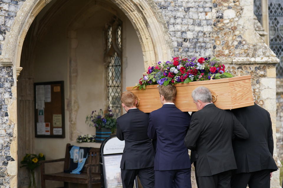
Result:
[[154,149],[147,136],[148,114],[136,108],[136,96],[130,91],[121,95],[126,114],[117,118],[117,137],[125,140],[121,159],[123,188],[133,188],[136,176],[144,188],[154,187]]

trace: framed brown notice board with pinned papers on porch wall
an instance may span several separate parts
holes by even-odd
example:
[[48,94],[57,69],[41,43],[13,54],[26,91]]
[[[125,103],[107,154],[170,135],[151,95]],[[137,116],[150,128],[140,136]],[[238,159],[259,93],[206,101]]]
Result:
[[65,138],[64,81],[34,83],[35,137]]

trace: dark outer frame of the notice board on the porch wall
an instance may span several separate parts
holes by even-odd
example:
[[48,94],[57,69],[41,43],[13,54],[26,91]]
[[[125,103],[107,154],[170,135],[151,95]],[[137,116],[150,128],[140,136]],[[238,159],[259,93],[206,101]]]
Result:
[[[36,103],[37,103],[36,86],[37,85],[54,85],[54,84],[60,84],[61,115],[62,115],[62,135],[51,135],[51,125],[50,125],[50,135],[38,135],[37,134],[38,109],[36,108]],[[51,88],[51,93],[52,93],[52,88]],[[51,98],[51,101],[52,101],[52,98]],[[45,110],[44,110],[44,113],[45,113]],[[51,123],[52,123],[52,127],[53,127],[53,122],[50,121],[50,124]],[[37,82],[37,83],[34,83],[34,126],[35,126],[34,134],[35,134],[35,137],[37,137],[37,138],[65,138],[65,94],[64,94],[64,81],[51,81],[51,82]]]

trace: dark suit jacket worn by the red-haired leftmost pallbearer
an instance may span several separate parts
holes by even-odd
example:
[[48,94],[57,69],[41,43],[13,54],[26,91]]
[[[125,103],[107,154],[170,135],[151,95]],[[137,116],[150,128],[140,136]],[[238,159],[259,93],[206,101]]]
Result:
[[117,118],[117,138],[125,140],[121,169],[153,167],[155,152],[147,136],[148,116],[136,108]]

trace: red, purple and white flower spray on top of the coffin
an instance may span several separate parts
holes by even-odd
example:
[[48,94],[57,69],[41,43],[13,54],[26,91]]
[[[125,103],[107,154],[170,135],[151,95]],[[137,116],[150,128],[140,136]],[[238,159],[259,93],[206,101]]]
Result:
[[[219,59],[212,58],[185,58],[174,57],[171,61],[149,66],[147,74],[139,79],[135,87],[145,89],[146,85],[168,85],[176,83],[189,83],[211,79],[233,77],[225,72],[225,65],[219,63]],[[135,88],[134,87],[134,88]]]

